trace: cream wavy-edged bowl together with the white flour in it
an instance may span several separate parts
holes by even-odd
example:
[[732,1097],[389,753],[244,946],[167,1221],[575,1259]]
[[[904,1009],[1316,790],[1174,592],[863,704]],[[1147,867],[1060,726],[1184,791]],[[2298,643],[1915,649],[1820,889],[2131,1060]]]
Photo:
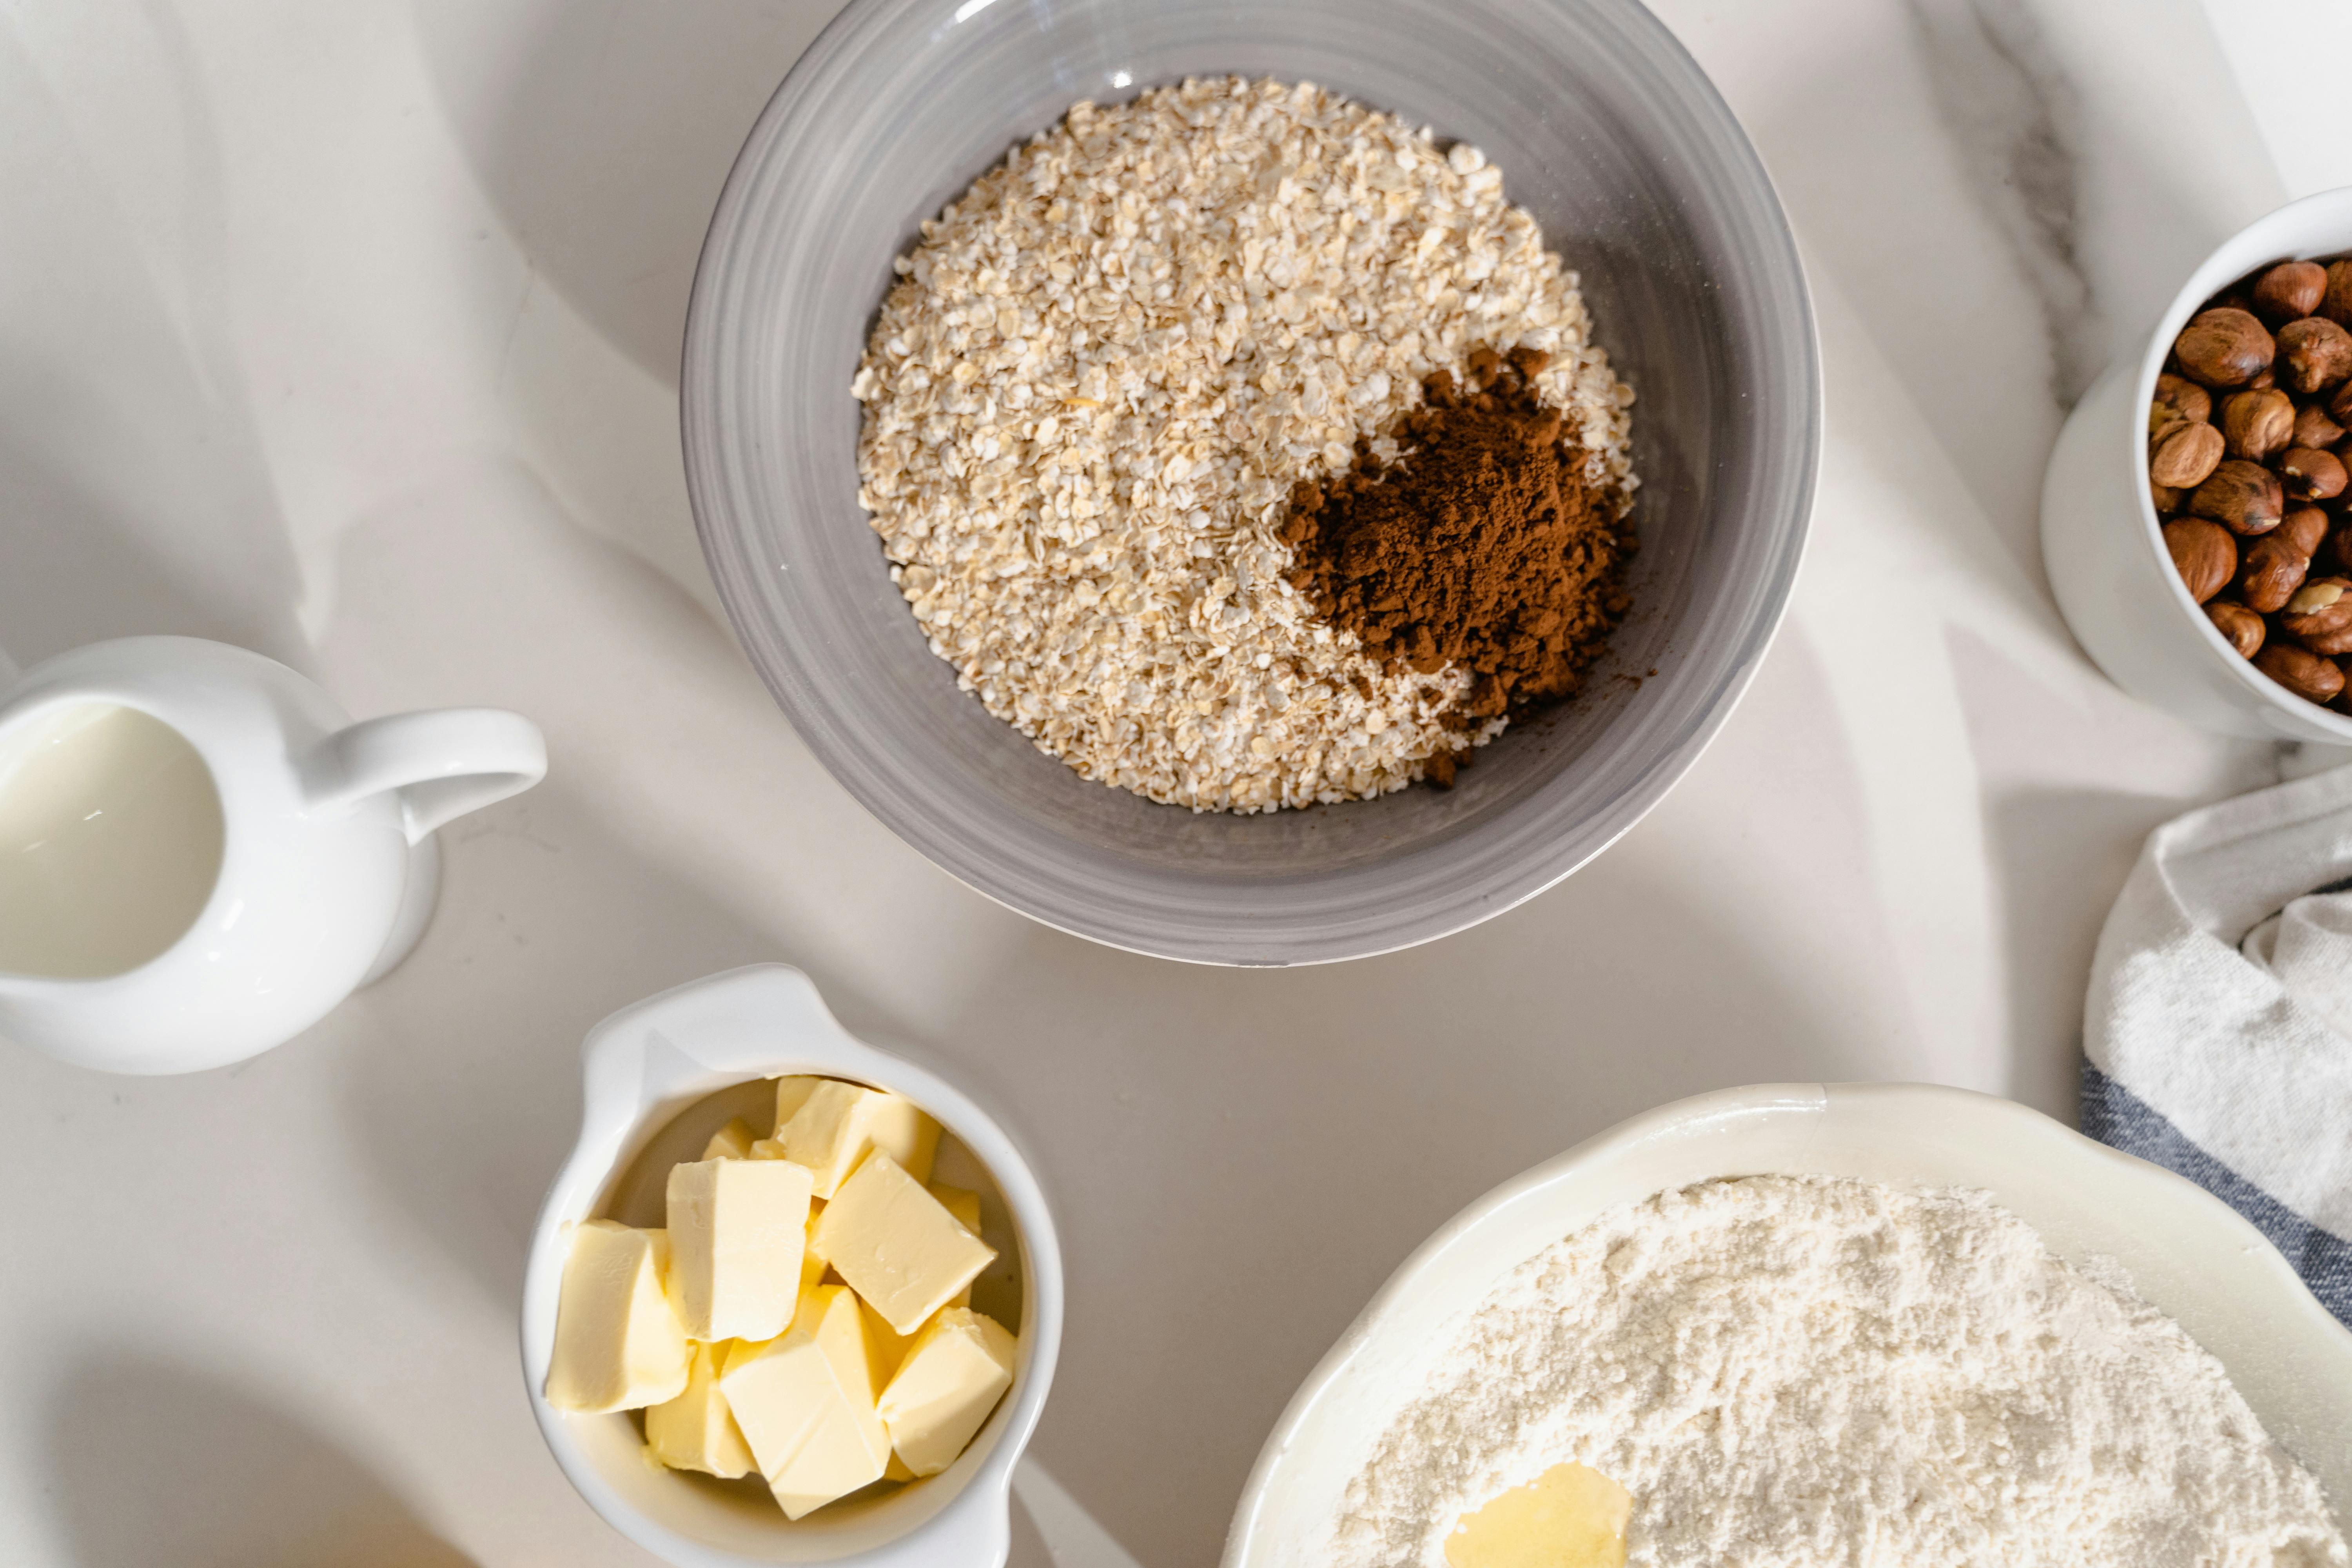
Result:
[[1282,1413],[1225,1568],[1444,1568],[1557,1462],[1632,1493],[1628,1568],[2338,1568],[2352,1331],[2218,1199],[2023,1105],[1733,1088],[1430,1237]]

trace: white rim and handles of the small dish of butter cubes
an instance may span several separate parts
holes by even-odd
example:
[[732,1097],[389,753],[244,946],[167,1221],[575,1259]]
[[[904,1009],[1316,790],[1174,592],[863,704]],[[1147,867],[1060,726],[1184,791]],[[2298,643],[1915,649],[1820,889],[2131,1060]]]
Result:
[[[532,1222],[517,1312],[520,1371],[532,1415],[581,1500],[614,1530],[677,1568],[767,1568],[776,1561],[988,1568],[990,1561],[1002,1561],[1011,1528],[1014,1467],[1037,1432],[1061,1359],[1065,1291],[1051,1204],[1007,1124],[924,1063],[849,1034],[826,1009],[816,985],[788,964],[729,969],[619,1009],[588,1030],[581,1072],[581,1133]],[[1021,1241],[1023,1269],[1014,1385],[974,1439],[974,1448],[983,1441],[988,1448],[969,1469],[960,1458],[948,1472],[931,1476],[943,1481],[964,1472],[927,1516],[873,1547],[826,1559],[741,1556],[654,1519],[604,1479],[574,1427],[581,1418],[546,1399],[564,1232],[604,1201],[614,1178],[684,1107],[734,1084],[790,1072],[877,1084],[915,1100],[988,1168]]]

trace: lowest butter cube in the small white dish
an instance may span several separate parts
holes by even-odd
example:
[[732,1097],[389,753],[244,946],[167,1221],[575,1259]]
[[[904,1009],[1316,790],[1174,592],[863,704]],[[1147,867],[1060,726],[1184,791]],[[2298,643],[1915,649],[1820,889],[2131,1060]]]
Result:
[[889,1467],[866,1324],[847,1286],[816,1286],[781,1338],[727,1356],[720,1389],[788,1519],[873,1486]]

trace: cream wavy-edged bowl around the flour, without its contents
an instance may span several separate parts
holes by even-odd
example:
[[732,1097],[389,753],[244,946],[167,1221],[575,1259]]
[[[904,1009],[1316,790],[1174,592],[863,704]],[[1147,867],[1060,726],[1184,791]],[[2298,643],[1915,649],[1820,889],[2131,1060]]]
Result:
[[2145,1300],[2220,1359],[2352,1530],[2352,1331],[2220,1199],[1992,1095],[1771,1084],[1625,1121],[1496,1187],[1430,1237],[1282,1413],[1242,1493],[1225,1568],[1322,1561],[1348,1481],[1421,1368],[1519,1262],[1609,1208],[1771,1173],[1976,1187],[2058,1255],[2119,1262]]

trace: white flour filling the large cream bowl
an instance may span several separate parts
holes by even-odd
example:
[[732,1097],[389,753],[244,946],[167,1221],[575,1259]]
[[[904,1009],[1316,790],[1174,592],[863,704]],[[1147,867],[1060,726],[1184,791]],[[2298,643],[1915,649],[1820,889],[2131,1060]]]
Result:
[[2169,1316],[1969,1192],[1745,1178],[1604,1215],[1470,1314],[1331,1568],[1442,1568],[1559,1462],[1632,1568],[2340,1568],[2319,1483]]

